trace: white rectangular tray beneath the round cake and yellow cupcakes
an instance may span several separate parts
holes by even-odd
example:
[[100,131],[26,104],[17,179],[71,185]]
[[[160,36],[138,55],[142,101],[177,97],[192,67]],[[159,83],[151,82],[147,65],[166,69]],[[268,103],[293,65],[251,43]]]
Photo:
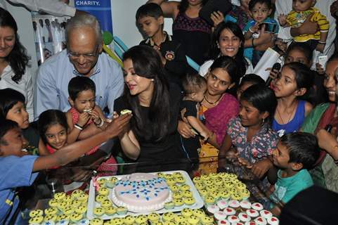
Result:
[[[184,179],[186,180],[185,184],[188,184],[188,186],[190,186],[190,191],[193,193],[193,197],[195,198],[195,204],[193,205],[182,205],[180,207],[174,207],[171,210],[167,210],[167,209],[162,209],[162,210],[157,210],[157,211],[153,211],[153,212],[157,212],[158,214],[162,214],[164,212],[180,212],[182,211],[184,208],[190,208],[190,209],[200,209],[201,207],[203,207],[204,202],[200,196],[200,193],[198,193],[197,189],[195,188],[195,185],[193,184],[193,181],[190,179],[190,176],[188,175],[187,172],[183,171],[183,170],[174,170],[174,171],[167,171],[167,172],[162,172],[164,174],[173,174],[174,172],[180,172],[182,174],[182,176],[184,177]],[[157,174],[157,172],[154,173],[150,173],[150,174]],[[126,174],[127,175],[127,174]],[[115,176],[117,179],[122,179],[122,177],[126,176],[126,175],[117,175]],[[112,176],[100,176],[100,178],[98,179],[108,179]],[[112,188],[109,188],[109,196],[111,196],[111,192],[112,192]],[[87,209],[87,218],[88,219],[93,219],[96,216],[93,214],[93,209],[94,207],[99,207],[100,203],[96,203],[95,197],[96,197],[96,193],[95,193],[95,187],[93,186],[93,180],[91,180],[91,184],[89,187],[89,199],[88,199],[88,209]],[[171,191],[170,191],[171,192]],[[110,199],[111,200],[111,199]],[[117,207],[114,203],[112,203],[113,206]],[[124,215],[119,215],[119,214],[113,214],[113,215],[106,215],[103,214],[101,217],[99,217],[100,219],[112,219],[115,217],[126,217],[127,215],[140,215],[140,214],[150,214],[150,212],[127,212]]]

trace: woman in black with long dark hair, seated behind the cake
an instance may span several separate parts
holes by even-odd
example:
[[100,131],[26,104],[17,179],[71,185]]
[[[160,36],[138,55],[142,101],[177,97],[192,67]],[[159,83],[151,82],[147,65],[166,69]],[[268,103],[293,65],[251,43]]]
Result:
[[[122,150],[137,162],[160,165],[163,160],[177,161],[182,158],[176,144],[181,100],[178,86],[167,82],[160,55],[150,46],[134,46],[123,58],[127,89],[124,96],[115,101],[115,111],[129,109],[133,118],[130,129],[119,136]],[[144,169],[138,168],[140,170]]]

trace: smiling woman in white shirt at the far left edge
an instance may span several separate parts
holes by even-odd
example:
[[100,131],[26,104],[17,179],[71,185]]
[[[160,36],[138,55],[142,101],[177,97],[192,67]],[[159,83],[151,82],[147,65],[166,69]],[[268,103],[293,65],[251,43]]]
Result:
[[11,88],[25,96],[30,121],[33,120],[32,72],[29,57],[18,37],[18,26],[4,8],[0,8],[0,88]]

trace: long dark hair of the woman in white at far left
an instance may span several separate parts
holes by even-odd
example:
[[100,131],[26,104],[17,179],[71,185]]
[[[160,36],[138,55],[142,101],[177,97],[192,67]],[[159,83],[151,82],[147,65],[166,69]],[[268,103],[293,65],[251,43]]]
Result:
[[11,65],[14,72],[14,76],[12,77],[13,82],[18,83],[22,75],[25,74],[30,57],[27,56],[25,47],[20,43],[18,25],[16,25],[11,13],[8,13],[4,8],[0,8],[0,27],[10,27],[15,32],[15,44],[11,53],[6,57],[6,61]]

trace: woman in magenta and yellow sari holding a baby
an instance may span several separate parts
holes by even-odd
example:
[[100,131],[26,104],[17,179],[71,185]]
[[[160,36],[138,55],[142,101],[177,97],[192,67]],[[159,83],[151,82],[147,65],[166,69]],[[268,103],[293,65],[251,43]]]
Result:
[[209,139],[200,150],[200,174],[216,172],[219,148],[226,135],[228,121],[239,111],[237,99],[228,94],[239,81],[238,66],[229,56],[217,58],[207,74],[207,91],[201,103],[200,118],[209,129]]

